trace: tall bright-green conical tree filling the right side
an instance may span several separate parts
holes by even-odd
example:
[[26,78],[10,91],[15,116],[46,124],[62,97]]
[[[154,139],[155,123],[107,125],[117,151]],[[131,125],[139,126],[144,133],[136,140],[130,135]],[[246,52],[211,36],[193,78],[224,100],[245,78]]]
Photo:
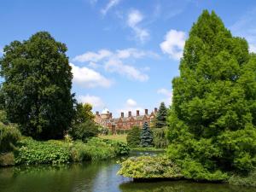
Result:
[[203,11],[189,32],[173,79],[170,157],[186,177],[247,173],[256,153],[256,56],[218,16]]

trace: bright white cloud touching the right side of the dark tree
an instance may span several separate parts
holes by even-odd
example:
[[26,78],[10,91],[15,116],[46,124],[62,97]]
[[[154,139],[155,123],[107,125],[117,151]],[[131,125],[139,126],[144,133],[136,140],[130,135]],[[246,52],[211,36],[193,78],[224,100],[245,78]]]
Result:
[[86,88],[93,87],[110,87],[112,82],[103,77],[100,73],[88,68],[88,67],[78,67],[73,63],[70,63],[73,73],[73,83],[80,84]]

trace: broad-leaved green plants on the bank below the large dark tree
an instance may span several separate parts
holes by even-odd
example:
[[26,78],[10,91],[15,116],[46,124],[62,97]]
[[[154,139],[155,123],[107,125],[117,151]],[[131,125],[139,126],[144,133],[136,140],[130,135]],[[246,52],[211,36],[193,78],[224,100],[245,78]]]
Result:
[[20,141],[15,164],[59,164],[70,161],[69,145],[61,141],[37,142],[31,138]]

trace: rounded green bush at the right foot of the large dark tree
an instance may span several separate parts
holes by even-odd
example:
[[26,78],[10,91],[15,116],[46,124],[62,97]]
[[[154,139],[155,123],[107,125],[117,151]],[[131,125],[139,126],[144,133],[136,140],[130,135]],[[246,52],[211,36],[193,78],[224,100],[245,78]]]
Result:
[[75,124],[68,131],[74,140],[79,139],[86,142],[91,137],[96,137],[99,133],[98,125],[93,120],[86,120],[83,123]]

